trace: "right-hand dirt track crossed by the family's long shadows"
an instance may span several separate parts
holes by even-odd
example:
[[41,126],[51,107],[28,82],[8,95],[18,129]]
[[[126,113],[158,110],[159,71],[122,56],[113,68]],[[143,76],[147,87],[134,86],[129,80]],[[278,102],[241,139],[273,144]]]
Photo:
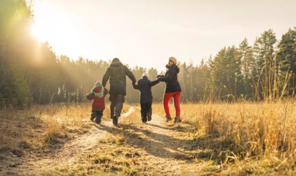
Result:
[[122,124],[121,127],[126,143],[141,155],[137,159],[144,165],[140,175],[197,175],[202,169],[199,160],[193,159],[196,142],[188,124],[166,123],[165,118],[153,115],[147,124]]

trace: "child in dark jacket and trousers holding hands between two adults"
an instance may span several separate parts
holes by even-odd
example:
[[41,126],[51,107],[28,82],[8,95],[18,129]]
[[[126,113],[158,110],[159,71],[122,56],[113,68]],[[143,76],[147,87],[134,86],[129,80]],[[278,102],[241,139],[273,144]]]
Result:
[[153,96],[151,92],[151,87],[155,86],[159,81],[150,81],[147,76],[143,76],[141,80],[138,81],[138,85],[133,84],[135,89],[140,90],[140,104],[141,104],[141,116],[142,122],[146,123],[151,120],[152,115],[152,101]]

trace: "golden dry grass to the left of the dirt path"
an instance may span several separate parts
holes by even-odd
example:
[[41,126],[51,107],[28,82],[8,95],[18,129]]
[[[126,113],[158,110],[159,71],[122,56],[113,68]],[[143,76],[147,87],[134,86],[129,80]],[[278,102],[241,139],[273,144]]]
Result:
[[[110,119],[106,104],[103,120]],[[124,104],[122,112],[129,105]],[[91,103],[35,105],[26,109],[0,110],[0,152],[42,149],[82,134],[91,127]]]

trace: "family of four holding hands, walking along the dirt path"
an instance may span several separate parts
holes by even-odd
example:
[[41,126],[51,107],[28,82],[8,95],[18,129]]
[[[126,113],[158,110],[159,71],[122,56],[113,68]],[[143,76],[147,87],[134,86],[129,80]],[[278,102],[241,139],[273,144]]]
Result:
[[[132,81],[133,88],[140,91],[141,119],[143,123],[151,121],[153,102],[151,87],[157,85],[159,82],[165,82],[166,84],[163,94],[163,107],[166,113],[166,122],[172,120],[168,104],[170,99],[173,98],[176,110],[174,123],[181,123],[180,98],[182,90],[178,82],[180,69],[177,66],[177,59],[175,57],[170,57],[166,68],[167,71],[165,75],[157,75],[156,80],[150,81],[148,77],[144,75],[136,84],[137,81],[134,74],[123,65],[118,58],[114,58],[103,76],[102,84],[97,82],[95,87],[91,90],[92,92],[86,95],[87,99],[93,100],[91,121],[96,119],[96,123],[101,123],[103,111],[105,109],[105,97],[109,93],[109,100],[111,101],[110,117],[113,125],[117,126],[126,96],[127,76]],[[109,91],[105,88],[108,80],[110,83]]]

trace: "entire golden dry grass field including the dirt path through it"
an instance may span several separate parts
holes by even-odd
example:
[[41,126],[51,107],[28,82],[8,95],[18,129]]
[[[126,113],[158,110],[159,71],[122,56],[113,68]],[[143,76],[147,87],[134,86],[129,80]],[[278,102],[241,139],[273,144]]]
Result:
[[296,175],[295,106],[181,104],[175,125],[162,104],[147,124],[125,104],[118,127],[109,108],[90,122],[90,104],[3,110],[0,175]]

